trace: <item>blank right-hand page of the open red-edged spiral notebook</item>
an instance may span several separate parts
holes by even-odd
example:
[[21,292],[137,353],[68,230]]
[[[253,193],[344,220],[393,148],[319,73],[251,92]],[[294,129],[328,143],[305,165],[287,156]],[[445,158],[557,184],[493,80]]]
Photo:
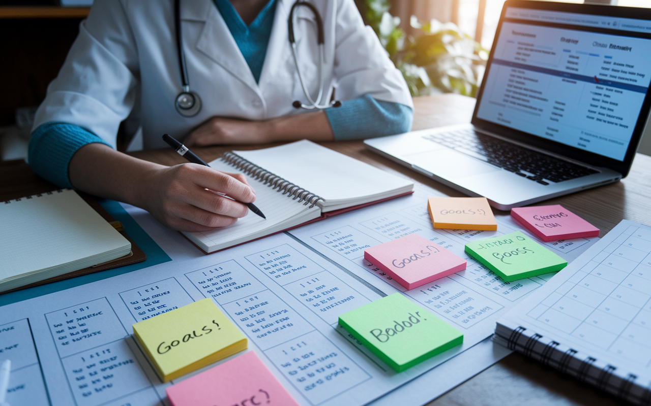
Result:
[[[233,151],[326,199],[324,211],[409,192],[413,183],[308,140],[255,151]],[[345,203],[347,202],[347,203]]]

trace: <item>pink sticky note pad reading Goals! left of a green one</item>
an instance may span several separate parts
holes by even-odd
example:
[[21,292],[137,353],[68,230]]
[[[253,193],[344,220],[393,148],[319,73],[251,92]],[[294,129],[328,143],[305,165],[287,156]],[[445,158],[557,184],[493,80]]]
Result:
[[367,248],[364,258],[408,289],[465,269],[465,259],[416,234]]

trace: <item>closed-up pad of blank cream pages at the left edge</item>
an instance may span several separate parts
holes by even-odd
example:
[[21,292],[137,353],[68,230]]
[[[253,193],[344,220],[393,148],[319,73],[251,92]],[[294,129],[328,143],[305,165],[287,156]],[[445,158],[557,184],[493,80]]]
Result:
[[0,218],[0,292],[131,251],[131,243],[74,190],[0,203]]

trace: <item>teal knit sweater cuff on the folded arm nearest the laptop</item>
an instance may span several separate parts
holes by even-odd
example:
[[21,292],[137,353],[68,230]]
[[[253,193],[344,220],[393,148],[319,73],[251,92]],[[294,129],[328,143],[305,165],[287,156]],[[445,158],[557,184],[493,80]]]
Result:
[[342,101],[340,107],[324,111],[337,141],[406,133],[413,121],[411,107],[370,95]]

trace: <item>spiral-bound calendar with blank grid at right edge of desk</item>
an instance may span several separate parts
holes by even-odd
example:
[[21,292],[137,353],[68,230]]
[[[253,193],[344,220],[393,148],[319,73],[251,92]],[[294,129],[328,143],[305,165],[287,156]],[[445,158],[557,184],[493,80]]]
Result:
[[651,404],[651,227],[622,220],[495,328],[495,342]]

